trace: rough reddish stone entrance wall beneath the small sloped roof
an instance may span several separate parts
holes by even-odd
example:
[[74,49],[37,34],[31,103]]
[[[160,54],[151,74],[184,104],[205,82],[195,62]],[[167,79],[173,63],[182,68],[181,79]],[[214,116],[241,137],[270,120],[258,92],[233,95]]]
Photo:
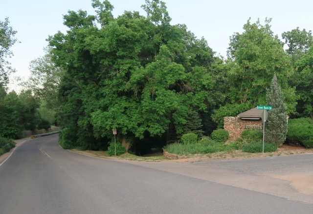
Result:
[[260,129],[262,130],[262,120],[240,119],[238,117],[224,117],[224,129],[229,132],[230,141],[235,141],[240,138],[241,133],[245,129]]

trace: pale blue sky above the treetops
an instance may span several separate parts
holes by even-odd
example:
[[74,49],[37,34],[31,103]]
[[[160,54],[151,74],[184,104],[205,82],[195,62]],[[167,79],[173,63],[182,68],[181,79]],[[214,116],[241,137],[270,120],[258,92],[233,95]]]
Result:
[[[101,0],[102,1],[102,0]],[[272,31],[281,34],[299,27],[313,30],[312,0],[163,0],[172,18],[171,24],[186,24],[188,30],[199,39],[204,37],[210,48],[217,54],[226,56],[229,37],[234,32],[242,32],[243,25],[251,17],[255,23],[259,18],[264,24],[266,17],[272,18]],[[125,10],[139,11],[145,0],[110,0],[114,6],[113,15],[117,17]],[[91,0],[0,0],[0,20],[9,18],[10,25],[18,31],[11,50],[14,56],[8,59],[13,74],[27,79],[30,74],[29,62],[44,55],[43,49],[48,35],[58,30],[66,32],[63,15],[68,10],[86,10],[95,15]],[[11,84],[10,87],[14,88]]]

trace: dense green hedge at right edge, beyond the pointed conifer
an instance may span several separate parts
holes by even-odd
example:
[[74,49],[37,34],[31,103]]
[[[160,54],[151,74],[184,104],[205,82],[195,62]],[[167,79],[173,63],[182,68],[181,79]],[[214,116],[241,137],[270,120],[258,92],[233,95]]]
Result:
[[289,119],[287,142],[313,148],[313,119]]

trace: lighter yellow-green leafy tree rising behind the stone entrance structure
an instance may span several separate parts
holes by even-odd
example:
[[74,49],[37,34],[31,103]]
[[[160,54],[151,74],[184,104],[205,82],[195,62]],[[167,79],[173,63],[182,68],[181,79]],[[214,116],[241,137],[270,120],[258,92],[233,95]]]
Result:
[[[228,48],[228,88],[230,102],[250,103],[250,106],[264,103],[266,88],[276,73],[283,89],[291,92],[288,79],[291,77],[290,58],[286,55],[283,45],[270,29],[271,19],[262,25],[258,20],[244,25],[242,34],[236,33],[230,39]],[[292,93],[291,93],[292,95]],[[294,111],[296,97],[289,97],[288,109]],[[287,100],[286,100],[287,101]]]

